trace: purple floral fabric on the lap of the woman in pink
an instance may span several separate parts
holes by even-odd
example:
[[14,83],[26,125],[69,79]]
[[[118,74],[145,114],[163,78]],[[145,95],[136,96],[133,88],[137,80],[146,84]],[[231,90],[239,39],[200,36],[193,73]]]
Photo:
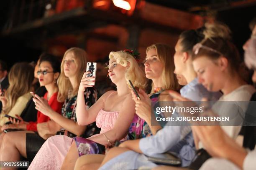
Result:
[[79,157],[88,154],[105,154],[105,146],[95,143],[90,139],[75,137]]

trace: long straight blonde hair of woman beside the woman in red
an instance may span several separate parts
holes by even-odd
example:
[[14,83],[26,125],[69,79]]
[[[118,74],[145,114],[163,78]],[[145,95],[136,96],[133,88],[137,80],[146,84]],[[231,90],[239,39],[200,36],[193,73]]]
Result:
[[[75,64],[77,65],[77,72],[76,72],[77,87],[74,87],[74,88],[72,87],[72,84],[69,78],[64,74],[64,60],[66,55],[69,52],[72,52],[72,54],[74,55]],[[61,61],[61,73],[57,81],[58,87],[59,87],[57,100],[59,102],[64,102],[67,98],[71,98],[77,95],[80,81],[82,79],[84,71],[86,70],[86,62],[87,62],[87,54],[81,48],[72,47],[65,52],[63,59]]]

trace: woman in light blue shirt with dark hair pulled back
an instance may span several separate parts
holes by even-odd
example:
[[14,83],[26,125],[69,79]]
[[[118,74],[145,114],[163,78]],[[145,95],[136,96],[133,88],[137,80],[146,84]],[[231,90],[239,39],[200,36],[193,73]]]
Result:
[[[218,29],[215,31],[212,29],[213,27],[217,27]],[[180,90],[181,95],[196,101],[201,100],[202,97],[208,96],[212,96],[212,100],[218,100],[218,98],[221,96],[220,92],[209,92],[204,86],[197,82],[197,75],[192,66],[192,48],[197,42],[200,42],[204,38],[203,32],[213,32],[214,35],[217,36],[220,30],[226,29],[227,28],[224,25],[215,24],[206,25],[206,28],[200,28],[198,30],[188,30],[182,32],[175,46],[176,52],[174,55],[175,72],[178,73],[177,78],[179,80],[179,84],[185,85]],[[228,34],[229,32],[226,31],[225,35]],[[138,100],[136,103],[140,104],[141,107],[140,100]],[[151,115],[150,110],[147,112],[148,115]],[[156,166],[156,164],[148,161],[144,155],[136,153],[138,150],[140,150],[139,153],[143,153],[149,156],[164,153],[168,150],[172,152],[178,152],[179,156],[182,158],[182,166],[187,166],[191,163],[195,156],[194,140],[192,138],[192,133],[189,131],[190,129],[184,128],[183,126],[176,127],[172,125],[166,125],[162,130],[159,130],[155,136],[122,143],[120,145],[122,148],[115,148],[115,150],[111,149],[107,157],[113,158],[117,155],[117,153],[120,154],[128,150],[133,150],[135,152],[130,151],[123,153],[123,155],[119,155],[113,158],[113,160],[110,160],[101,168],[111,169],[112,165],[118,165],[118,162],[124,162],[123,165],[126,166],[117,166],[118,168],[136,169],[144,165],[152,167]],[[183,134],[183,136],[180,134]],[[139,159],[137,159],[137,156]],[[136,157],[135,162],[126,160],[127,157]],[[105,158],[105,160],[106,159],[108,158]]]

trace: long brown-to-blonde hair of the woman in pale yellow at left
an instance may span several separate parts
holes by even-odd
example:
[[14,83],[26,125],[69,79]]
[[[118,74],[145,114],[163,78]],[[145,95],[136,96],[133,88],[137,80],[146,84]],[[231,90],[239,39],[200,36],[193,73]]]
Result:
[[34,69],[27,62],[18,62],[10,69],[8,80],[10,85],[5,92],[7,104],[1,112],[3,114],[8,114],[18,98],[31,91]]

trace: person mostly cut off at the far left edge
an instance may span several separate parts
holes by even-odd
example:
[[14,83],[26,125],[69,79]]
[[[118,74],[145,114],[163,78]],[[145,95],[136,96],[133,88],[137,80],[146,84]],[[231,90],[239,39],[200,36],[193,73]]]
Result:
[[[6,90],[9,86],[7,65],[4,61],[0,60],[0,87]],[[2,110],[2,102],[0,101],[0,112]]]

